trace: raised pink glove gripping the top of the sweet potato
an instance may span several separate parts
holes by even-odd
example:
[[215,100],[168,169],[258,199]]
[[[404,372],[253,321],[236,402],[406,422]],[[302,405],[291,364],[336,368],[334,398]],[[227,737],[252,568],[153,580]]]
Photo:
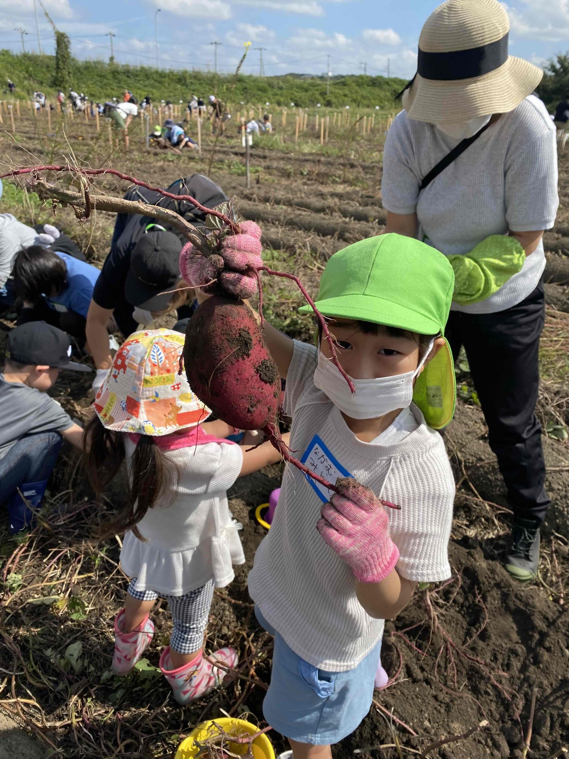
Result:
[[[240,235],[226,235],[218,255],[205,257],[190,242],[180,254],[180,271],[186,282],[214,293],[221,289],[234,298],[251,298],[257,280],[250,267],[262,266],[261,230],[255,222],[241,222]],[[205,286],[204,286],[205,285]]]

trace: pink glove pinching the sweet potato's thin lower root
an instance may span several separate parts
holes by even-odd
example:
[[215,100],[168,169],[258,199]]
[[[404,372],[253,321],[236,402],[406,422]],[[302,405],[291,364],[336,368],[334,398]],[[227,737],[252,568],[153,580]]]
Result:
[[324,504],[316,528],[357,580],[381,582],[399,559],[382,502],[357,480],[345,477],[336,485],[342,495],[334,493]]

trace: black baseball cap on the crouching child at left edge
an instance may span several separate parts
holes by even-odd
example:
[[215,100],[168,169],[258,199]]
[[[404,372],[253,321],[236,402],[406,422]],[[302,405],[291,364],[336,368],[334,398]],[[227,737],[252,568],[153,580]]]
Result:
[[67,332],[46,322],[27,322],[8,332],[6,358],[34,367],[58,367],[74,372],[90,372],[91,367],[69,361],[71,342]]

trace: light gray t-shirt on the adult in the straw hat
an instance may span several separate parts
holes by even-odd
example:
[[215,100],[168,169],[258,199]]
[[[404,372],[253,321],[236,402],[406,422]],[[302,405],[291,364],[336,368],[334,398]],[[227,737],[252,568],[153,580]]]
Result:
[[[466,254],[489,235],[508,229],[534,231],[555,224],[557,146],[545,106],[530,95],[502,114],[423,191],[423,177],[460,140],[435,124],[399,113],[385,140],[382,200],[392,213],[417,212],[418,238],[446,256]],[[536,288],[545,267],[543,244],[523,269],[486,301],[452,309],[495,313],[511,308]]]

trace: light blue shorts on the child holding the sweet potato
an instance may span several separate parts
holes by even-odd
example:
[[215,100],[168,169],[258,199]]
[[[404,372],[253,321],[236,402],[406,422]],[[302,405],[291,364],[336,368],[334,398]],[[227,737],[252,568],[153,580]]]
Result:
[[299,743],[332,745],[357,728],[373,701],[382,642],[348,672],[325,672],[285,643],[255,607],[259,625],[275,637],[271,684],[262,704],[266,721]]

